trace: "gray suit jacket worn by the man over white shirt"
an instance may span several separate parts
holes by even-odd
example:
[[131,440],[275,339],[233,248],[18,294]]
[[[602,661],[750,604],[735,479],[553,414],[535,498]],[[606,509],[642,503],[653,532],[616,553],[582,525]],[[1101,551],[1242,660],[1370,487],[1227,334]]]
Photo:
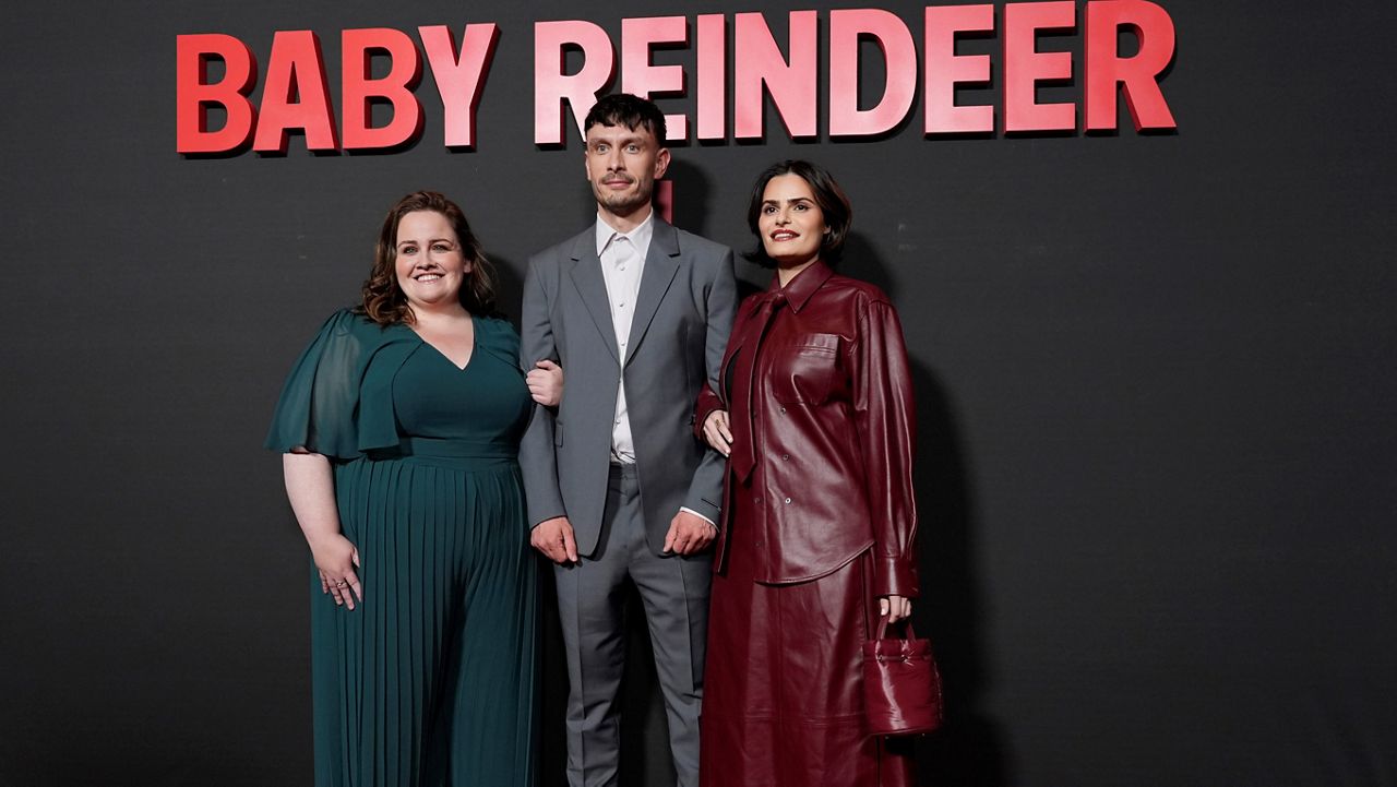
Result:
[[623,370],[650,547],[661,549],[680,506],[718,521],[724,459],[694,439],[693,410],[704,383],[718,384],[735,308],[732,250],[657,215],[620,358],[594,226],[529,260],[520,365],[563,366],[562,404],[535,405],[520,446],[531,524],[567,516],[578,554],[595,549]]

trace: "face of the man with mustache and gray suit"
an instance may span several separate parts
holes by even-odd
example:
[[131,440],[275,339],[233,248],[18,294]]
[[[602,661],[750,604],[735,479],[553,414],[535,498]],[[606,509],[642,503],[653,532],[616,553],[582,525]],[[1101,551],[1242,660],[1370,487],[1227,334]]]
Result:
[[669,148],[661,147],[648,126],[587,129],[587,180],[597,208],[631,222],[648,215],[655,179],[669,166]]

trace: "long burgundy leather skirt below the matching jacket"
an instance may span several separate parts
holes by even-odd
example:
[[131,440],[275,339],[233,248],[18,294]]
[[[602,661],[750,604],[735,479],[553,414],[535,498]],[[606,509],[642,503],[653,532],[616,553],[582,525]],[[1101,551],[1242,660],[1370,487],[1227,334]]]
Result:
[[700,783],[911,786],[909,748],[890,751],[865,731],[861,646],[877,623],[869,552],[819,579],[760,584],[743,527],[757,503],[735,492],[708,612]]

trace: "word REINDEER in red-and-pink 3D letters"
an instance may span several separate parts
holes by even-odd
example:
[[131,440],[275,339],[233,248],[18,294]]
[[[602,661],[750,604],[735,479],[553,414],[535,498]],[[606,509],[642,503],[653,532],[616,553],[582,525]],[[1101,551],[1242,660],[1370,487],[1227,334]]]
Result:
[[[1123,94],[1137,131],[1175,129],[1158,78],[1173,60],[1173,21],[1148,0],[1091,0],[1085,3],[1083,35],[1083,108],[1085,130],[1116,129],[1116,98]],[[929,137],[996,131],[995,105],[956,103],[958,85],[993,87],[989,55],[957,55],[965,35],[996,32],[993,4],[928,6],[921,25],[923,133]],[[732,52],[728,17],[694,18],[694,112],[698,140],[766,137],[766,102],[792,138],[817,138],[823,113],[830,137],[875,137],[898,127],[912,110],[918,89],[918,41],[895,14],[879,8],[828,11],[826,52],[828,89],[819,89],[820,20],[817,11],[791,11],[785,35],[777,41],[767,15],[732,15]],[[1051,0],[1003,6],[1002,122],[1006,133],[1077,130],[1077,106],[1070,102],[1039,103],[1041,84],[1070,84],[1074,78],[1070,52],[1039,52],[1041,31],[1076,32],[1077,3]],[[1139,52],[1122,56],[1119,34],[1132,34]],[[657,98],[685,96],[687,74],[680,66],[652,66],[655,45],[689,46],[689,20],[648,17],[622,21],[622,89]],[[859,82],[865,63],[863,42],[877,45],[883,59],[883,89],[877,102],[859,108]],[[564,53],[580,52],[581,67],[566,73]],[[595,95],[610,87],[616,50],[606,32],[588,21],[539,22],[534,28],[534,141],[564,141],[566,109],[581,126]],[[731,68],[729,68],[731,64]],[[732,99],[732,124],[725,103]],[[666,115],[669,140],[689,138],[689,116]]]

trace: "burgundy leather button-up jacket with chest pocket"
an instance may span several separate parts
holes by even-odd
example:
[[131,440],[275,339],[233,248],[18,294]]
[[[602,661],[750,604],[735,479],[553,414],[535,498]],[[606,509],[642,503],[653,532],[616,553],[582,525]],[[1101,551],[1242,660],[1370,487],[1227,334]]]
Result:
[[[781,291],[773,278],[770,292]],[[764,335],[753,295],[738,308],[718,389],[705,387],[694,431],[728,410],[747,417],[735,358],[760,345],[752,387],[757,470],[749,484],[729,461],[714,569],[726,565],[733,495],[753,495],[757,582],[824,576],[873,549],[873,594],[918,595],[912,489],[914,404],[897,312],[870,284],[816,263],[784,288]],[[747,506],[743,506],[745,509]]]

